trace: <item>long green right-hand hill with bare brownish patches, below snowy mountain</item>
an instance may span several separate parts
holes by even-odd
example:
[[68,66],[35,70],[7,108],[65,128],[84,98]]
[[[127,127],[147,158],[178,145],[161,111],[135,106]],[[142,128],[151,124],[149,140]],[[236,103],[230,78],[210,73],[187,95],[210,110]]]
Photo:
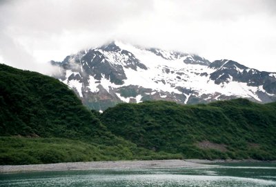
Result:
[[276,159],[276,103],[146,101],[108,108],[101,121],[137,146],[184,158]]

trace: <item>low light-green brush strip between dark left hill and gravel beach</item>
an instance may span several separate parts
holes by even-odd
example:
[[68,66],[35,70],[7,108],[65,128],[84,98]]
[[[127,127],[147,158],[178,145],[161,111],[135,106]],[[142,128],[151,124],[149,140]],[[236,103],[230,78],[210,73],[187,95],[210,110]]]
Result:
[[61,138],[0,137],[0,164],[48,164],[72,161],[181,159],[135,145],[106,146]]

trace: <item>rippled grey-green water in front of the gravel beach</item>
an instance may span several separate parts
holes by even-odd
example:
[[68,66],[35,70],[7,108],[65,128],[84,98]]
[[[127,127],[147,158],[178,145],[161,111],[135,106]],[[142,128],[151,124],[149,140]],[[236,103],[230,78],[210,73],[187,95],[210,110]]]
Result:
[[1,174],[0,186],[276,186],[276,164]]

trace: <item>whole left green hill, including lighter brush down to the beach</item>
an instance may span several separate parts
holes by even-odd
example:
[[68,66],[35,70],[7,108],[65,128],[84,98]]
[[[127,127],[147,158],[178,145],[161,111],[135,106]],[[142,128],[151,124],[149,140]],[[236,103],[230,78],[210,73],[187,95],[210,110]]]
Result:
[[65,84],[0,64],[0,164],[180,158],[113,135]]

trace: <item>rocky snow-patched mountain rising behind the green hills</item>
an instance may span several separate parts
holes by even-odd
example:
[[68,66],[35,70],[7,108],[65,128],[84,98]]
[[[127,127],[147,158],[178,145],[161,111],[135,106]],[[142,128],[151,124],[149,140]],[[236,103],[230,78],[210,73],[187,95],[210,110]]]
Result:
[[180,104],[237,97],[262,103],[276,100],[275,72],[261,72],[226,59],[211,63],[198,55],[119,41],[51,63],[60,67],[55,77],[95,110],[120,102],[158,99]]

